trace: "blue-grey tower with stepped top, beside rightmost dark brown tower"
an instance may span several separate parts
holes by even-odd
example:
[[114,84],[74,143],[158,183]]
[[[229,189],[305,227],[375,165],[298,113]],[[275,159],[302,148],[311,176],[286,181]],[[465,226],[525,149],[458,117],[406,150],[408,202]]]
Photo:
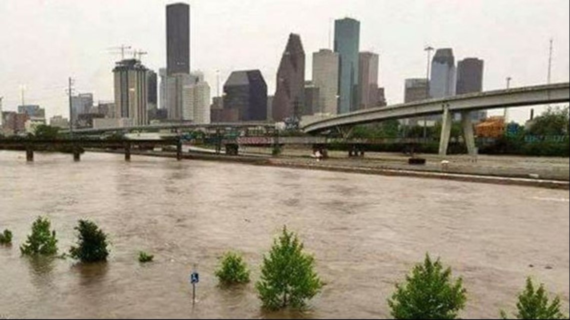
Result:
[[455,58],[453,49],[438,49],[431,60],[430,97],[455,96]]

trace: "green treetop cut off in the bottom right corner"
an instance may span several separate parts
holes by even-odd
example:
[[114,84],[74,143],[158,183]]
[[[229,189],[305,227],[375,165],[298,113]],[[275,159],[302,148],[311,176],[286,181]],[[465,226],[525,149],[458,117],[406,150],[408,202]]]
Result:
[[[527,286],[519,294],[516,309],[516,319],[568,319],[568,316],[560,311],[560,298],[556,297],[549,303],[544,285],[541,284],[538,290],[535,290],[531,278],[527,278]],[[507,313],[501,311],[501,317],[507,319]]]

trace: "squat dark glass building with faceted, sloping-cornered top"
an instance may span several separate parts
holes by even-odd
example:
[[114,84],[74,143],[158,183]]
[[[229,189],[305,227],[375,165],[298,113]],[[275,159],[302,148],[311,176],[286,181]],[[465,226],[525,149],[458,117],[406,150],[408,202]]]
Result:
[[223,93],[222,122],[267,120],[267,84],[259,70],[232,72]]

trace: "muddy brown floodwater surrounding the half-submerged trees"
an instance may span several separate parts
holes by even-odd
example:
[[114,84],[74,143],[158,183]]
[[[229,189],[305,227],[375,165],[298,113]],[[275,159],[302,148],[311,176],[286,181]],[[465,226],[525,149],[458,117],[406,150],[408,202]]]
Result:
[[[463,317],[496,318],[527,276],[569,296],[569,192],[404,177],[257,167],[122,155],[0,151],[0,317],[386,318],[394,283],[426,252],[461,275]],[[60,252],[76,221],[96,221],[112,241],[109,262],[30,260],[18,245],[38,215],[58,231]],[[327,283],[305,313],[265,313],[253,283],[217,287],[229,249],[259,277],[286,224],[314,253]],[[140,250],[155,262],[140,265]],[[188,277],[201,282],[193,307]],[[531,268],[532,265],[533,267]]]

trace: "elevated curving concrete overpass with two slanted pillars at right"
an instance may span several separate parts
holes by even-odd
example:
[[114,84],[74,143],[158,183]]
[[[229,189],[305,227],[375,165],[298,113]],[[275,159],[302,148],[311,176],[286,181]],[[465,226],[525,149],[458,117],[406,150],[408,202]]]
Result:
[[570,83],[537,85],[534,87],[471,93],[468,95],[446,97],[425,101],[399,104],[382,108],[360,110],[336,117],[311,122],[302,127],[305,133],[317,134],[331,129],[346,132],[355,125],[370,124],[386,120],[399,120],[423,116],[443,116],[439,154],[445,156],[449,146],[453,114],[460,113],[463,134],[469,154],[475,155],[475,136],[470,112],[498,108],[516,108],[520,106],[556,104],[570,101]]

